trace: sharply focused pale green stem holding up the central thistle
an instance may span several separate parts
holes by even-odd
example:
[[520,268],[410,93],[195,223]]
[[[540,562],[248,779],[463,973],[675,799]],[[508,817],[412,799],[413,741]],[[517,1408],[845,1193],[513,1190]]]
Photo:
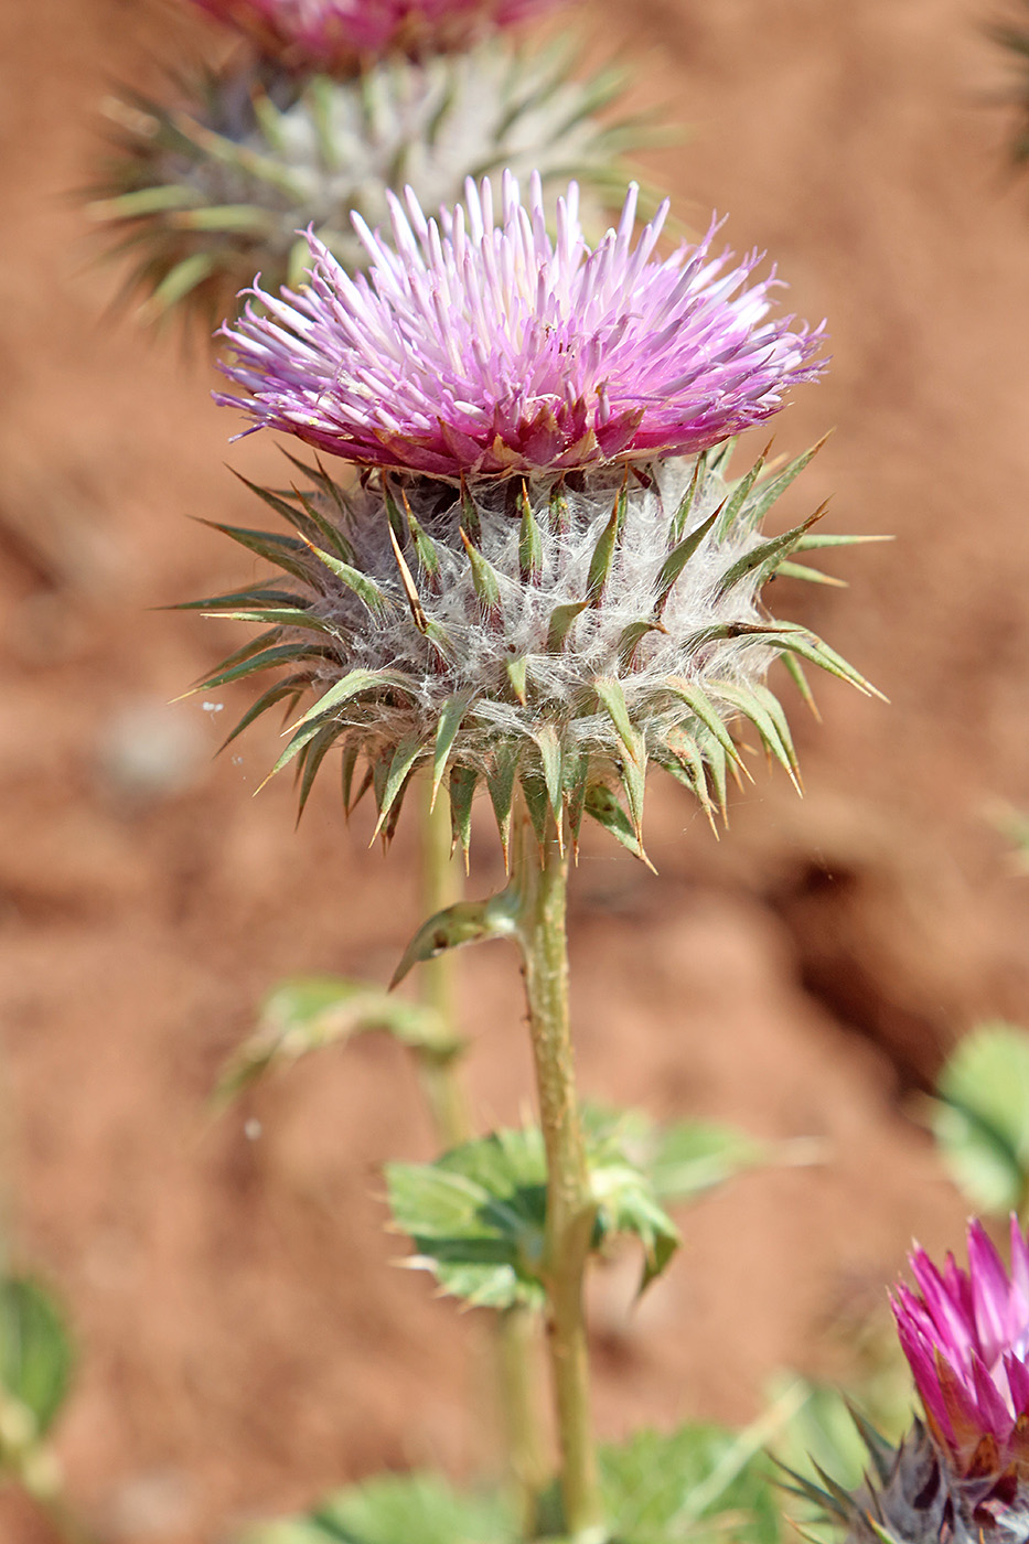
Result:
[[569,1538],[586,1541],[599,1536],[601,1524],[582,1305],[596,1207],[590,1195],[569,1024],[569,860],[553,824],[539,852],[524,812],[514,843],[513,880],[521,900],[518,943],[547,1150],[542,1277],[550,1308],[561,1495]]

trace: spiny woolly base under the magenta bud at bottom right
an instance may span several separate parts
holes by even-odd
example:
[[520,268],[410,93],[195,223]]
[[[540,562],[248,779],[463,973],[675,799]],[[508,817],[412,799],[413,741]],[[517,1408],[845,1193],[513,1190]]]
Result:
[[1021,1544],[1029,1536],[1024,1459],[998,1462],[989,1439],[992,1450],[961,1475],[921,1420],[895,1448],[856,1419],[871,1462],[853,1495],[820,1470],[822,1485],[788,1471],[788,1488],[837,1525],[845,1544]]

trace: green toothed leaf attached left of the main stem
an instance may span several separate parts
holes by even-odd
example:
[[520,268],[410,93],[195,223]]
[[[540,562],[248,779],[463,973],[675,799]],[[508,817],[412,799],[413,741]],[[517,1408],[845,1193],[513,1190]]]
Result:
[[542,1308],[547,1160],[536,1127],[464,1143],[431,1164],[386,1164],[386,1184],[417,1251],[411,1268],[482,1308]]

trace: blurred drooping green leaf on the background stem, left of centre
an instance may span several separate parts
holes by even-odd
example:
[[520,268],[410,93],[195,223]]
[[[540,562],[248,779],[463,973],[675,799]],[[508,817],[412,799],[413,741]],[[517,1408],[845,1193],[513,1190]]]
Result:
[[258,1027],[226,1064],[215,1101],[227,1104],[266,1072],[292,1067],[309,1051],[372,1030],[385,1030],[402,1045],[433,1056],[454,1056],[464,1045],[434,1008],[405,1002],[372,982],[294,976],[261,1004]]

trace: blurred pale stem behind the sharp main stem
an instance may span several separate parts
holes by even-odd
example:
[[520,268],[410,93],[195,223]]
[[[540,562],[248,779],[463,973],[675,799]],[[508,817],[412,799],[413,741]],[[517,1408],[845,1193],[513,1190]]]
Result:
[[[425,916],[434,916],[460,900],[460,871],[451,857],[451,845],[448,801],[440,797],[434,809],[430,809],[426,791],[422,820]],[[426,960],[422,994],[423,1002],[436,1008],[447,1024],[456,1024],[454,957],[450,951]],[[473,1127],[460,1081],[459,1056],[423,1051],[419,1065],[440,1144],[456,1147],[468,1141]],[[531,1536],[538,1498],[547,1478],[533,1379],[535,1331],[536,1315],[530,1309],[516,1306],[498,1314],[496,1359],[507,1461],[527,1536]]]

